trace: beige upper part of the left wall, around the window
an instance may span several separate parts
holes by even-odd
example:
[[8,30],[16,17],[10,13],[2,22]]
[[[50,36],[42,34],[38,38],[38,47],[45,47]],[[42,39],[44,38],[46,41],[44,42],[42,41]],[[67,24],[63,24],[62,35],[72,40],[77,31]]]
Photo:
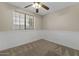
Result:
[[8,5],[6,3],[0,3],[0,31],[11,31],[12,29],[12,12],[19,11],[35,16],[35,30],[41,29],[42,17],[30,12],[27,12],[23,9],[17,8],[15,6]]

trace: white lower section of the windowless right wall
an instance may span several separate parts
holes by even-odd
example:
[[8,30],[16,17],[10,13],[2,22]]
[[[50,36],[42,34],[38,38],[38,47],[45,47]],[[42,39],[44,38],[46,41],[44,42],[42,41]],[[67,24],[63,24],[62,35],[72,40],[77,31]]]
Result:
[[44,39],[79,50],[79,32],[72,31],[43,31]]

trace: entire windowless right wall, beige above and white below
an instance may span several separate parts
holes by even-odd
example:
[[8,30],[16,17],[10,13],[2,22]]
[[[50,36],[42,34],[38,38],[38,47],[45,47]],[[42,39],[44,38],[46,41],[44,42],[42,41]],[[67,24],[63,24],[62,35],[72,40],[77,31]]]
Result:
[[79,50],[79,5],[43,17],[45,39]]

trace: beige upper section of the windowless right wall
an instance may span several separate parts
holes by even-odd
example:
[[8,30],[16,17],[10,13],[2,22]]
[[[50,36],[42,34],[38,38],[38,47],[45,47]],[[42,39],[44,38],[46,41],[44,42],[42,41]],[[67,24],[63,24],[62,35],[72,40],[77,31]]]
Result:
[[79,5],[43,17],[43,29],[57,31],[79,31]]

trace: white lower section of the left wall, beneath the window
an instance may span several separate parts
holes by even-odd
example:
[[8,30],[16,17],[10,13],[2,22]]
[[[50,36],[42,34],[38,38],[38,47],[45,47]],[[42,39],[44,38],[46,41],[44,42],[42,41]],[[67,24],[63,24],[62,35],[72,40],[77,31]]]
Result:
[[41,34],[41,30],[0,32],[0,51],[42,39]]

